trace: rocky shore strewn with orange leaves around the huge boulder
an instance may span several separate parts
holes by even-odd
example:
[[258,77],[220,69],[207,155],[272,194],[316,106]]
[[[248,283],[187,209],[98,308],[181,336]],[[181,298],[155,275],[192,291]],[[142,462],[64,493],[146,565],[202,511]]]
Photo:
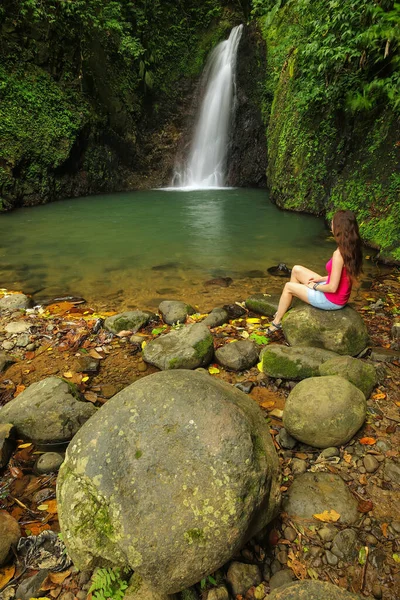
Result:
[[[340,324],[341,339],[332,335],[338,331],[332,315],[330,325],[311,326],[321,311],[297,306],[285,321],[286,339],[268,340],[265,328],[277,301],[269,295],[216,307],[207,315],[176,301],[163,302],[158,314],[112,315],[73,301],[30,308],[22,294],[0,298],[2,597],[86,598],[92,569],[79,571],[56,560],[55,547],[50,568],[43,557],[30,564],[21,540],[38,543],[41,535],[59,531],[56,472],[83,422],[109,398],[115,402],[121,390],[138,389],[143,377],[161,369],[178,378],[187,373],[190,381],[192,375],[223,381],[258,405],[282,474],[279,515],[239,544],[222,567],[217,560],[211,575],[179,591],[182,600],[297,599],[304,586],[306,597],[316,600],[365,595],[395,600],[400,585],[399,289],[394,271],[362,292],[344,309],[347,314],[339,311],[347,318]],[[156,381],[153,377],[145,381]],[[59,419],[54,402],[40,406],[35,386],[52,386],[46,397],[53,400],[62,394]],[[56,391],[60,386],[64,389]],[[36,422],[29,418],[32,401]],[[75,421],[72,406],[79,409]],[[58,432],[50,423],[60,423]],[[184,544],[180,551],[184,556]],[[301,583],[293,586],[296,580]],[[163,586],[145,593],[131,581],[125,598],[163,593]]]

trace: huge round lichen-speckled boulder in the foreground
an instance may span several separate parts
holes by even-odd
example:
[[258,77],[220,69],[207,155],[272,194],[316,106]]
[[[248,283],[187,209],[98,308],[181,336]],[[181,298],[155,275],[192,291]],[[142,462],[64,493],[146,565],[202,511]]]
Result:
[[174,593],[224,564],[275,515],[278,459],[264,417],[208,374],[136,381],[70,443],[58,478],[79,569],[130,565]]

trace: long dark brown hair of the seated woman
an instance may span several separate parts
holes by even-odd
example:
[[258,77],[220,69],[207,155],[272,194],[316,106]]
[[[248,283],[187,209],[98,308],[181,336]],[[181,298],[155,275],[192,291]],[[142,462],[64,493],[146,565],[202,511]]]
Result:
[[352,280],[356,279],[362,271],[362,249],[355,214],[351,210],[338,210],[332,220],[332,230],[346,271]]

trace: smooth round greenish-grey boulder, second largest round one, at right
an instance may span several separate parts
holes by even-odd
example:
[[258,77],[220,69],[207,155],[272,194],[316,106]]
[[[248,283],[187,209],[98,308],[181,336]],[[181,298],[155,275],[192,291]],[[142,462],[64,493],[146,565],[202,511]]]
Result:
[[310,377],[290,392],[283,424],[300,442],[328,448],[348,442],[364,423],[366,413],[364,394],[347,379]]

